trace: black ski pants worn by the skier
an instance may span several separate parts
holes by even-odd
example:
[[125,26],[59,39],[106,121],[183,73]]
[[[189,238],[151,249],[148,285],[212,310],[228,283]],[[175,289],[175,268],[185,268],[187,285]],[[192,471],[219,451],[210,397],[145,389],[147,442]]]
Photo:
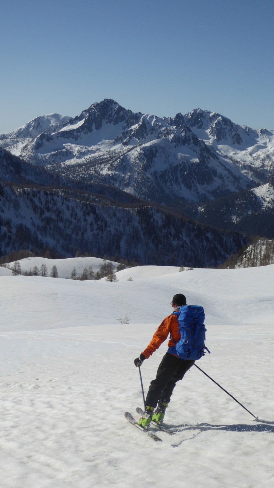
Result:
[[177,381],[182,380],[188,369],[195,363],[192,359],[180,359],[168,352],[164,355],[152,380],[146,397],[146,407],[156,407],[159,398],[170,402]]

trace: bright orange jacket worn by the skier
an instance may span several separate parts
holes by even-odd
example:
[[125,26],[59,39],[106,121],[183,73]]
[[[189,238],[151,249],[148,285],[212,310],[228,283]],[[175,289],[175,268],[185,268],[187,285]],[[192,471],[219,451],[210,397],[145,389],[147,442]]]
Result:
[[169,334],[171,334],[172,337],[170,337],[168,346],[175,346],[174,341],[175,343],[177,343],[180,340],[181,334],[178,329],[177,319],[178,318],[175,314],[169,315],[158,326],[157,331],[155,332],[149,345],[142,352],[146,359],[148,359],[149,356],[151,356],[152,353],[156,351],[156,349],[158,349],[158,347],[166,340]]

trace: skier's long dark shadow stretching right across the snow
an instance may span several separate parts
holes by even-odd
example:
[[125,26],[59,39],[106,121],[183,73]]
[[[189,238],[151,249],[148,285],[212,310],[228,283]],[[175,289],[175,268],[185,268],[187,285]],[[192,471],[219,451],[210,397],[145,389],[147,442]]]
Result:
[[254,425],[248,424],[232,424],[232,425],[213,425],[213,424],[196,424],[196,425],[173,425],[170,426],[172,430],[177,433],[189,432],[194,435],[191,438],[183,439],[178,444],[173,445],[173,447],[178,447],[182,442],[193,439],[201,432],[207,430],[227,430],[229,432],[273,432],[274,433],[274,422],[267,422],[260,420],[259,422],[254,422]]

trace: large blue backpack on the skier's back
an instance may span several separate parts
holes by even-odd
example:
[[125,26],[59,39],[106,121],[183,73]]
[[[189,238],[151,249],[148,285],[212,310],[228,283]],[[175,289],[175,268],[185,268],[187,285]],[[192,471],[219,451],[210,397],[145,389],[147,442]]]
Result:
[[[180,340],[168,352],[176,354],[181,359],[200,359],[205,354],[204,325],[205,313],[202,306],[183,305],[178,312],[173,312],[178,317],[178,328],[181,333]],[[172,351],[171,351],[172,349]]]

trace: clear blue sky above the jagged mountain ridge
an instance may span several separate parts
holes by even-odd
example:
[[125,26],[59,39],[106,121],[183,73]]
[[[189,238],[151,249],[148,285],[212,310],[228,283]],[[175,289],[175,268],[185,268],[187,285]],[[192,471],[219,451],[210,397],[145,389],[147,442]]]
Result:
[[113,98],[274,129],[274,0],[0,0],[0,133]]

